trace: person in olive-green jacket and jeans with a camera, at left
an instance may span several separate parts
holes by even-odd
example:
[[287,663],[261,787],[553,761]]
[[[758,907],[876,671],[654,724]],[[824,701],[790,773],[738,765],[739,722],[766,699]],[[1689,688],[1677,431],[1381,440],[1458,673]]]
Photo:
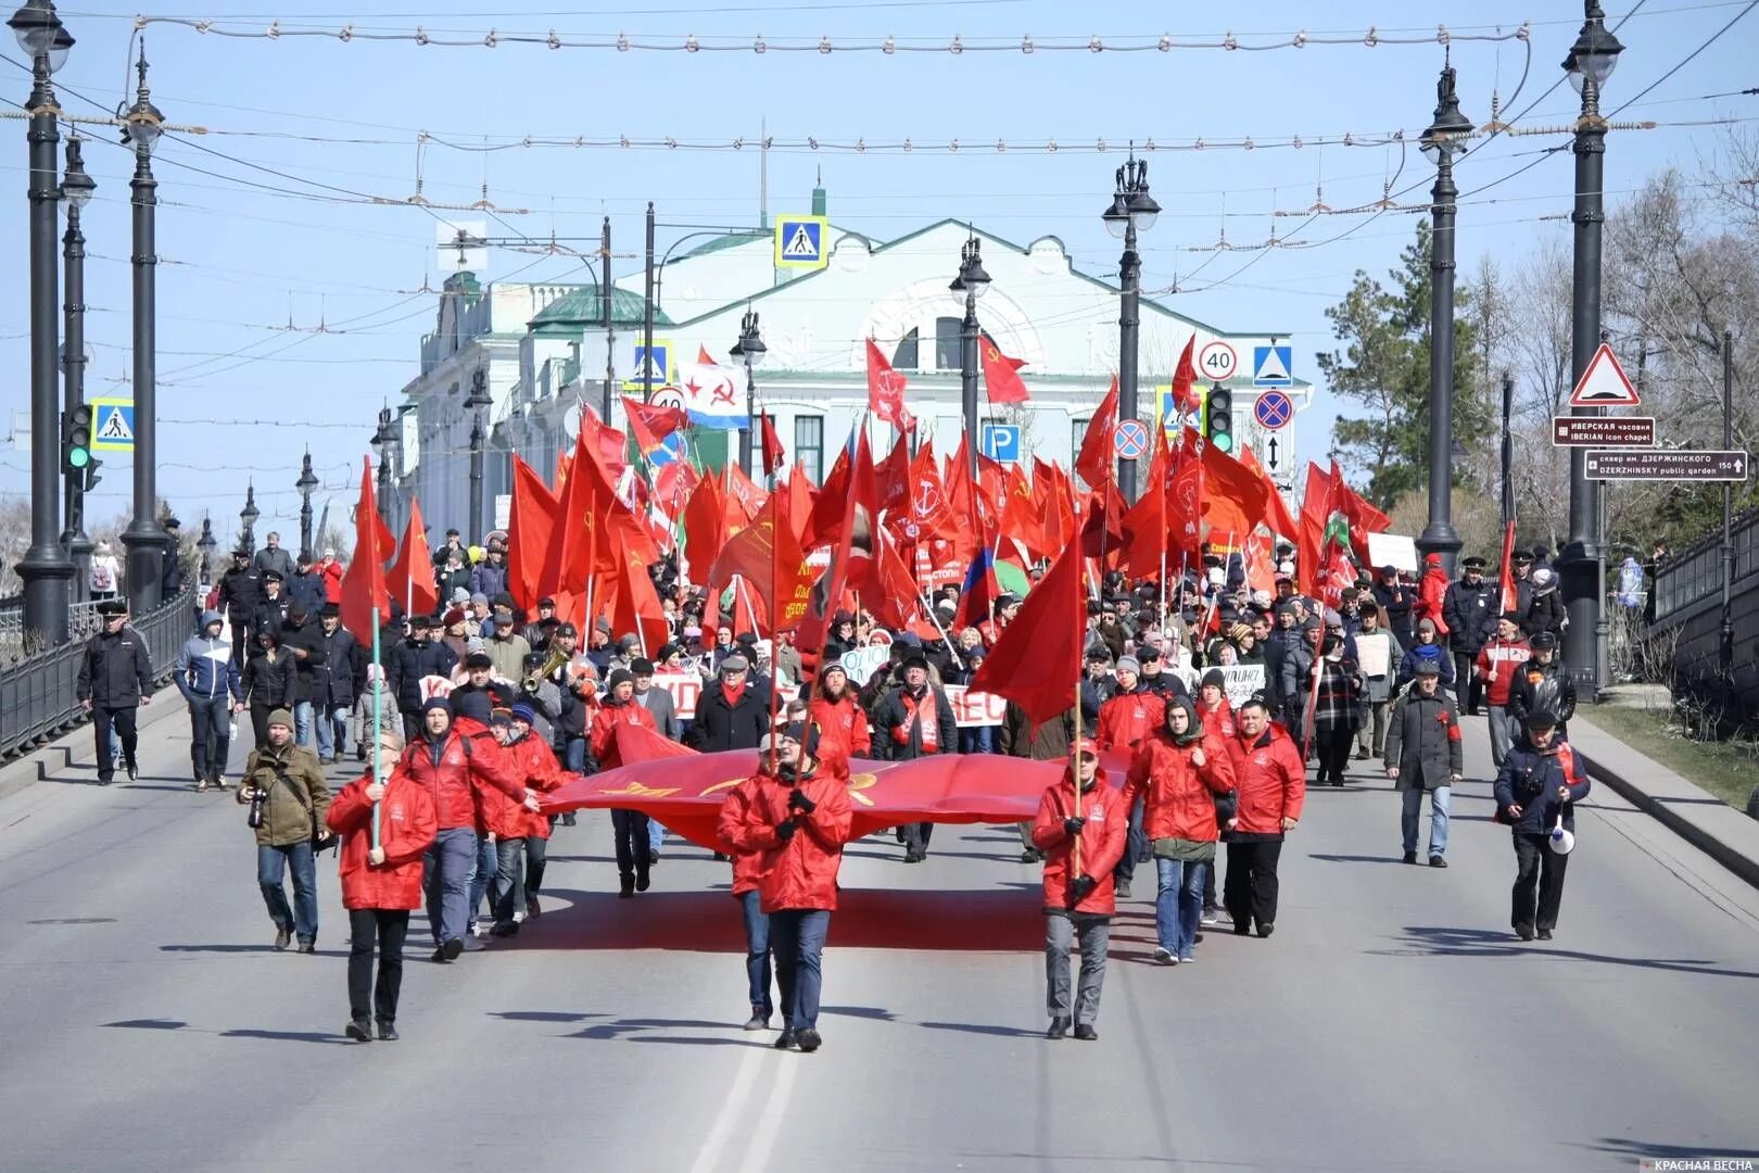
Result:
[[[274,948],[285,950],[294,934],[299,951],[317,951],[318,874],[315,853],[329,846],[324,816],[331,793],[317,754],[294,744],[294,714],[285,707],[269,714],[267,740],[250,754],[237,800],[252,804],[257,832],[257,883],[274,922]],[[260,802],[260,807],[257,805]],[[294,872],[294,904],[287,904],[281,878]]]

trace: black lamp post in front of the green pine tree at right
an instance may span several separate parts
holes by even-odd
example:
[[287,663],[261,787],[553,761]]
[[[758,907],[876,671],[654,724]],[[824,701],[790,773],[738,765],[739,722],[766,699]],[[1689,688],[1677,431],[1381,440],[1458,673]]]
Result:
[[1430,521],[1418,535],[1423,554],[1441,554],[1453,575],[1460,535],[1453,528],[1453,222],[1460,188],[1453,183],[1453,160],[1465,151],[1472,120],[1460,113],[1453,90],[1453,65],[1444,65],[1435,83],[1435,121],[1423,132],[1423,155],[1435,164],[1430,188]]

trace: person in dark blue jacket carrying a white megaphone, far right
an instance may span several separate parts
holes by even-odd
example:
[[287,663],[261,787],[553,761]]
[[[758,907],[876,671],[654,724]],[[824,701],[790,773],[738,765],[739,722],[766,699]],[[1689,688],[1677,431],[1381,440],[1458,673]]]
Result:
[[[1537,709],[1527,732],[1497,772],[1497,821],[1514,830],[1514,892],[1509,923],[1522,941],[1551,939],[1564,902],[1569,851],[1548,842],[1555,830],[1576,835],[1576,804],[1588,797],[1588,774],[1569,742],[1558,737],[1557,716]],[[1537,902],[1536,892],[1537,888]]]

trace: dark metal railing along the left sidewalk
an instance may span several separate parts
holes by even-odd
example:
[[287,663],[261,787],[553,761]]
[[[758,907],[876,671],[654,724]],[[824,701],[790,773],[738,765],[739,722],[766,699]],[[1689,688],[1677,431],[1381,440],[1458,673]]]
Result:
[[[153,682],[164,684],[195,630],[195,589],[185,587],[132,626],[146,640]],[[0,668],[0,758],[28,753],[86,719],[76,693],[84,654],[86,638],[72,638]]]

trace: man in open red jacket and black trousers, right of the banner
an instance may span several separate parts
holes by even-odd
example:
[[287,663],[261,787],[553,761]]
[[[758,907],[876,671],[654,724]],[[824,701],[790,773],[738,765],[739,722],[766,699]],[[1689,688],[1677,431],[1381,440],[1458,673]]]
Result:
[[1228,820],[1228,883],[1223,902],[1244,937],[1258,922],[1258,936],[1277,927],[1277,858],[1282,837],[1295,830],[1307,798],[1302,751],[1270,723],[1265,702],[1254,696],[1235,714],[1233,777],[1240,809]]

